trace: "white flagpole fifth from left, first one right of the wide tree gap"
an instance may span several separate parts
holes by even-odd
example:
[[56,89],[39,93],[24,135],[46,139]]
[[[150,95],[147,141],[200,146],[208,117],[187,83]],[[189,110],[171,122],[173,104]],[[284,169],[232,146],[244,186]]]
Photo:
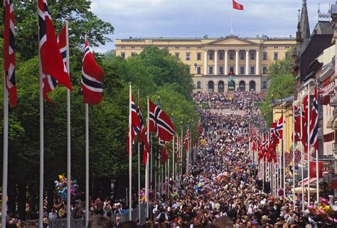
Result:
[[132,90],[129,83],[129,220],[132,220]]

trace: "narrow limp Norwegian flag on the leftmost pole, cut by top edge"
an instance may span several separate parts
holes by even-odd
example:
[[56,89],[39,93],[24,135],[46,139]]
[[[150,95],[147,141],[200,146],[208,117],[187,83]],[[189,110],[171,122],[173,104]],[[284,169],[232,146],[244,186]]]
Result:
[[9,92],[9,100],[13,107],[17,103],[15,81],[15,26],[14,7],[12,0],[4,0],[4,72],[6,89]]

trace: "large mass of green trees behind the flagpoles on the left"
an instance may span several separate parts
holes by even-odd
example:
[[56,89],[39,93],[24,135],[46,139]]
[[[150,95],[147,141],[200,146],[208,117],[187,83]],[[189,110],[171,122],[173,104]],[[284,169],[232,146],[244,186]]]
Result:
[[[16,199],[21,217],[24,217],[26,196],[36,205],[38,199],[39,170],[39,83],[38,83],[38,27],[36,1],[14,0],[16,13],[16,85],[18,105],[9,110],[9,209],[16,207]],[[50,14],[57,31],[68,16],[70,27],[70,78],[71,93],[71,150],[72,175],[77,178],[81,190],[85,187],[85,105],[80,95],[83,34],[89,32],[90,45],[97,46],[109,41],[112,25],[101,21],[90,11],[87,0],[49,0]],[[1,28],[2,31],[2,28]],[[0,44],[3,40],[0,38]],[[1,45],[2,48],[2,45]],[[97,56],[97,61],[105,71],[104,99],[100,105],[90,106],[90,180],[96,183],[94,197],[102,191],[109,194],[109,186],[102,187],[98,180],[110,182],[128,176],[126,141],[129,111],[129,82],[132,83],[135,99],[137,90],[141,94],[141,105],[146,117],[146,97],[154,102],[160,97],[161,108],[172,116],[180,130],[187,126],[196,127],[198,114],[193,108],[193,90],[189,68],[169,54],[156,47],[144,48],[143,53],[124,60],[110,51],[105,56]],[[0,63],[3,57],[0,56]],[[1,72],[2,75],[2,72]],[[3,77],[0,78],[3,83]],[[3,87],[0,86],[3,94]],[[66,172],[67,119],[66,93],[58,86],[50,93],[54,104],[44,102],[45,138],[45,190],[53,192],[53,182],[59,174]],[[3,97],[0,96],[0,102]],[[0,113],[3,107],[0,106]],[[1,115],[1,114],[0,114]],[[0,116],[0,125],[3,118]],[[2,137],[2,129],[0,137]],[[0,142],[0,144],[2,141]],[[2,145],[0,145],[1,147]],[[0,156],[0,160],[2,156]],[[137,159],[137,156],[134,156]],[[1,162],[1,161],[0,161]],[[134,173],[136,172],[134,162]],[[2,170],[1,170],[2,171]],[[0,172],[1,172],[0,171]],[[136,181],[137,179],[134,178]],[[92,186],[92,185],[90,185]],[[18,191],[17,191],[18,188]],[[19,193],[18,193],[19,192]],[[95,195],[95,192],[100,192]],[[122,192],[124,195],[124,190]],[[105,196],[105,195],[103,195]],[[118,197],[118,195],[117,195]],[[50,197],[51,199],[51,197]],[[51,202],[50,202],[51,204]]]

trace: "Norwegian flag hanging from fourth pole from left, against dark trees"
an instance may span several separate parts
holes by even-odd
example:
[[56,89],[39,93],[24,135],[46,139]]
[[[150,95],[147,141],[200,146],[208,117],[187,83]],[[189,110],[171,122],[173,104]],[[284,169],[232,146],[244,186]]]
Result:
[[[84,103],[97,105],[103,98],[104,72],[95,61],[85,37],[85,50],[82,59],[82,94]],[[136,113],[137,114],[137,113]]]

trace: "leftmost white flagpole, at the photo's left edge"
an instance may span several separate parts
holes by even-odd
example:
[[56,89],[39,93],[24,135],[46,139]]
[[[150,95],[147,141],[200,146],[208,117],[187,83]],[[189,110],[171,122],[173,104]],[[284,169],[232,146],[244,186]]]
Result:
[[[6,73],[6,72],[4,72]],[[4,74],[5,75],[5,74]],[[4,158],[2,167],[2,209],[1,227],[6,227],[7,219],[7,182],[8,182],[8,152],[9,152],[9,94],[4,77]],[[42,213],[41,213],[42,214]]]

